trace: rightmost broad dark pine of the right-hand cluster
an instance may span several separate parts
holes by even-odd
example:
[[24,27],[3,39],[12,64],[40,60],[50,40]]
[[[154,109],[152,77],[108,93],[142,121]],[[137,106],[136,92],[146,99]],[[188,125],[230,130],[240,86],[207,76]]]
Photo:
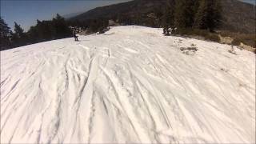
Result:
[[194,28],[214,31],[220,24],[221,10],[219,0],[201,0],[194,18]]

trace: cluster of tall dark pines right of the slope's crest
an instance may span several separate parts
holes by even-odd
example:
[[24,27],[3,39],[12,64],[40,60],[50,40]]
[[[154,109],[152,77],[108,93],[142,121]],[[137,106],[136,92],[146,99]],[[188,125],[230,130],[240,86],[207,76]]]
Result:
[[166,0],[163,33],[170,30],[198,29],[214,32],[221,22],[220,0]]

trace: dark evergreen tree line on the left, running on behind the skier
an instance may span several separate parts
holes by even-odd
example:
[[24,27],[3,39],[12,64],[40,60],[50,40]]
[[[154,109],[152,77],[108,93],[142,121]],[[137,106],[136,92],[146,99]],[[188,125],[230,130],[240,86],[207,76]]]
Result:
[[108,26],[107,19],[90,19],[83,21],[71,21],[62,18],[57,14],[52,20],[37,20],[35,26],[25,32],[17,22],[14,22],[14,32],[0,17],[0,47],[1,50],[7,50],[18,46],[26,46],[38,42],[46,42],[59,38],[70,38],[73,36],[75,28],[87,30],[87,32],[95,33],[106,30]]

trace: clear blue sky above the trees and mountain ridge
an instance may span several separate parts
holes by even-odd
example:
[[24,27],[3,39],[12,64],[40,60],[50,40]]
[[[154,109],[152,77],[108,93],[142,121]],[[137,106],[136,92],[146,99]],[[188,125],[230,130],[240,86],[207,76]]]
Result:
[[[36,19],[46,20],[55,14],[84,12],[98,6],[106,6],[130,0],[1,0],[1,17],[13,29],[14,21],[28,30]],[[242,0],[254,3],[254,0]]]

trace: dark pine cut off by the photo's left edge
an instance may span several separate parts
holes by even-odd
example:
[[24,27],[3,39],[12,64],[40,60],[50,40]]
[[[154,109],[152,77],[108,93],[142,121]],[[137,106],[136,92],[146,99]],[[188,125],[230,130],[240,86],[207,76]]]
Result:
[[10,37],[11,30],[6,22],[0,17],[0,48],[1,50],[6,50],[10,48]]

